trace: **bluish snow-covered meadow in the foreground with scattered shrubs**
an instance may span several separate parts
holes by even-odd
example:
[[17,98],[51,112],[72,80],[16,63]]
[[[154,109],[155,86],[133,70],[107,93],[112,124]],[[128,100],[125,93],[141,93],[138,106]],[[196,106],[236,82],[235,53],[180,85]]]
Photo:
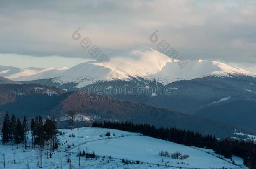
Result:
[[[73,169],[147,169],[165,168],[165,164],[169,168],[245,168],[243,162],[241,162],[243,160],[238,157],[234,157],[234,160],[240,166],[228,162],[230,159],[220,159],[214,156],[216,154],[208,149],[197,149],[196,147],[175,144],[169,141],[142,136],[138,133],[102,128],[59,129],[59,131],[65,133],[59,136],[59,150],[52,152],[52,158],[49,157],[48,159],[46,150],[42,151],[42,166],[45,169],[68,169],[70,166],[67,164],[67,156],[71,158]],[[105,136],[107,131],[110,132],[111,136]],[[115,136],[113,136],[114,134]],[[29,143],[31,144],[30,134]],[[81,167],[79,167],[78,150],[94,151],[98,158],[86,159],[81,157]],[[170,153],[179,151],[181,154],[189,155],[189,158],[181,160],[173,159],[172,157],[162,157],[159,156],[159,151],[161,150]],[[8,145],[1,144],[0,152],[2,154],[0,157],[0,168],[3,168],[4,158],[5,168],[7,169],[27,169],[27,165],[29,165],[30,169],[34,169],[37,168],[38,161],[40,165],[40,151],[38,149],[24,150],[22,145],[12,146],[9,143]],[[14,164],[14,159],[16,164]],[[134,161],[135,163],[124,164],[121,159]],[[140,164],[136,164],[137,160],[140,161]]]

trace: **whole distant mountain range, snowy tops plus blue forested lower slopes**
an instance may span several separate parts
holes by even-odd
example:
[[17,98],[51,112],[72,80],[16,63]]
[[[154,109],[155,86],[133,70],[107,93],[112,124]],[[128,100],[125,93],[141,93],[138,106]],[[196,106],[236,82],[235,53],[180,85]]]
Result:
[[[255,73],[217,61],[186,61],[181,66],[179,59],[145,46],[109,56],[109,59],[108,63],[90,61],[72,68],[0,66],[0,76],[5,77],[0,83],[42,84],[65,91],[77,91],[78,88],[83,91],[86,86],[86,89],[91,87],[92,93],[101,86],[98,93],[115,99],[256,129]],[[113,92],[115,86],[124,86],[130,91],[137,84],[150,92],[142,95]],[[151,89],[155,86],[170,86],[171,93],[153,92]]]

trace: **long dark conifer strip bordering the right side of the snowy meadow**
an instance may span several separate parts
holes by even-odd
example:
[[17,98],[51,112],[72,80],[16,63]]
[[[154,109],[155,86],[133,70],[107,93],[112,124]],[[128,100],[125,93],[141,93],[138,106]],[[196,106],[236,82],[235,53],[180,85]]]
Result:
[[256,144],[252,141],[238,141],[230,138],[218,140],[215,136],[203,136],[198,132],[185,131],[177,128],[156,128],[150,124],[133,124],[133,122],[93,122],[92,127],[118,129],[141,133],[145,136],[172,141],[186,146],[213,149],[216,154],[231,158],[232,155],[243,158],[244,164],[256,168]]

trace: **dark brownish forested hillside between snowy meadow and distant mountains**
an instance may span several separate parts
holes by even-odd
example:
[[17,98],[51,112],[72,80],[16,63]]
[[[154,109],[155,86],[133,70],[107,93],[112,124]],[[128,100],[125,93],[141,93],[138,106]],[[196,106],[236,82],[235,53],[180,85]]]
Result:
[[133,121],[157,127],[199,131],[221,138],[230,136],[235,129],[256,135],[256,131],[251,129],[93,93],[66,92],[32,84],[0,85],[0,92],[0,119],[3,119],[8,111],[20,119],[26,116],[29,122],[32,117],[39,115],[42,118],[55,117],[56,121],[60,121],[68,111],[74,111],[77,115],[90,119],[87,121],[89,124],[94,120]]

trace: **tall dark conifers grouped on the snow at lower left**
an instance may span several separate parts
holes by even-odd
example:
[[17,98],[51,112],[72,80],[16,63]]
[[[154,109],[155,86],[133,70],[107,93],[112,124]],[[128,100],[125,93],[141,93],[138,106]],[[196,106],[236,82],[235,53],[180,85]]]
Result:
[[[6,112],[3,127],[2,127],[2,139],[3,144],[6,144],[12,141],[13,144],[23,143],[25,147],[28,146],[28,123],[26,116],[24,116],[23,122],[21,123],[20,119],[12,114],[11,119],[9,118],[8,112]],[[57,130],[57,124],[55,119],[46,118],[43,122],[41,116],[36,116],[35,119],[31,119],[30,131],[32,136],[31,146],[44,146],[51,147],[51,150],[58,148],[60,140],[57,138],[59,132]]]

